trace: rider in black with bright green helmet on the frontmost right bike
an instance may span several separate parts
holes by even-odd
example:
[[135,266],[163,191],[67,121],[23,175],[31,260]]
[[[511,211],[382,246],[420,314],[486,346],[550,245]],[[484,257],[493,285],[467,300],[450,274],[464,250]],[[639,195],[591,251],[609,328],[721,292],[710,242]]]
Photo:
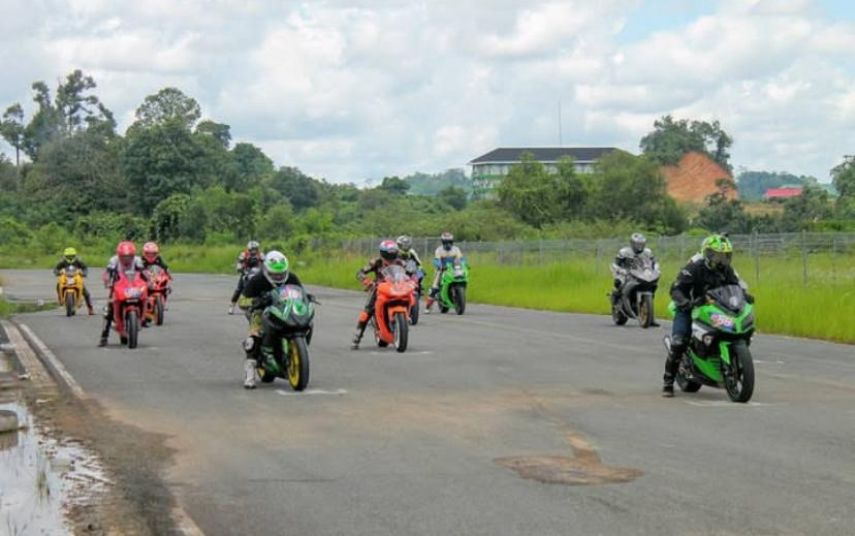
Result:
[[754,302],[753,296],[747,292],[747,285],[731,266],[732,256],[733,244],[729,238],[721,234],[710,235],[701,244],[700,254],[689,260],[671,285],[671,299],[677,311],[671,329],[671,351],[665,360],[662,396],[674,396],[674,377],[692,333],[692,307],[705,299],[707,291],[724,285],[739,285],[745,290],[746,299]]

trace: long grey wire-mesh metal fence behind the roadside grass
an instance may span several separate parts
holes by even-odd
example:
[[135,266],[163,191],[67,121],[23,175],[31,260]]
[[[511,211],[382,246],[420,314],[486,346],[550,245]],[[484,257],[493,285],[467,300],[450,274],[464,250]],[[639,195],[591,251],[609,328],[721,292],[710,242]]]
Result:
[[[762,280],[764,270],[774,263],[798,264],[801,279],[853,280],[855,282],[855,233],[779,233],[731,235],[735,260],[743,275]],[[345,240],[341,249],[370,257],[381,238]],[[683,262],[700,249],[702,236],[651,236],[648,246],[666,262]],[[413,246],[423,258],[432,258],[439,237],[413,238]],[[628,238],[524,240],[512,242],[457,242],[464,254],[505,265],[537,265],[573,259],[589,259],[596,269],[608,272],[617,251]],[[751,273],[753,272],[753,273]]]

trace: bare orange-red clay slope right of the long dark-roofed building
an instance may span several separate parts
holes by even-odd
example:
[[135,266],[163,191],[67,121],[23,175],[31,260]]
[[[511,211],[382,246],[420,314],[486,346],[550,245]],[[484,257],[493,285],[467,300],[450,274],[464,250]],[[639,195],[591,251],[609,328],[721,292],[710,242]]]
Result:
[[[686,153],[676,166],[663,166],[662,175],[668,185],[668,195],[680,203],[703,203],[708,195],[719,191],[716,182],[727,179],[733,183],[730,173],[705,154]],[[727,192],[728,199],[736,199],[736,185]]]

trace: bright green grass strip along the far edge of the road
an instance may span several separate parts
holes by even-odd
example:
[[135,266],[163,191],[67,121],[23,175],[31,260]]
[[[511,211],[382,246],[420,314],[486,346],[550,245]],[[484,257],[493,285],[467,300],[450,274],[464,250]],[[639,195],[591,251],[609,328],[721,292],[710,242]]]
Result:
[[[240,246],[186,246],[163,248],[175,272],[234,273]],[[100,253],[100,255],[98,255]],[[97,269],[109,252],[86,252],[84,258]],[[354,274],[365,258],[343,252],[289,255],[293,269],[306,282],[337,288],[359,289]],[[560,262],[506,265],[492,254],[469,256],[473,302],[549,311],[609,314],[606,294],[611,276],[607,259],[573,257]],[[0,256],[0,267],[48,268],[53,257]],[[808,283],[802,280],[799,256],[772,256],[756,260],[737,256],[734,263],[757,297],[758,326],[763,333],[812,337],[855,343],[855,256],[811,255]],[[668,318],[667,287],[682,265],[662,263],[662,284],[656,300],[657,315]],[[759,275],[759,277],[758,277]],[[0,301],[0,313],[10,307]],[[8,314],[8,313],[6,313]]]

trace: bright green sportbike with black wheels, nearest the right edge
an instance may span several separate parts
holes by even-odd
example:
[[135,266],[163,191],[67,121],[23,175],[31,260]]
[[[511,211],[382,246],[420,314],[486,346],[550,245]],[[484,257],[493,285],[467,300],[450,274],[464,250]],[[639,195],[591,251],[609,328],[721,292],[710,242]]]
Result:
[[[668,310],[673,315],[672,302]],[[692,336],[677,370],[677,385],[686,393],[702,385],[724,387],[733,402],[748,402],[754,393],[754,362],[751,336],[754,307],[739,285],[726,285],[707,292],[692,308]],[[665,337],[671,351],[671,337]]]

